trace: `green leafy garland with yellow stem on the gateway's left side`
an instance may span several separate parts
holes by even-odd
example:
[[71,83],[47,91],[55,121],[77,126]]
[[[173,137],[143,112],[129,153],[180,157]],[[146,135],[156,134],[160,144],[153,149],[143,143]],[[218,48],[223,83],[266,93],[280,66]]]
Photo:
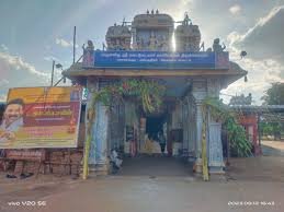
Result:
[[88,177],[89,152],[92,138],[92,123],[95,119],[95,104],[101,102],[105,106],[111,106],[113,102],[123,102],[125,97],[135,97],[140,102],[145,114],[159,111],[166,86],[154,80],[125,80],[112,85],[107,85],[93,93],[90,108],[88,109],[87,140],[83,158],[83,179]]

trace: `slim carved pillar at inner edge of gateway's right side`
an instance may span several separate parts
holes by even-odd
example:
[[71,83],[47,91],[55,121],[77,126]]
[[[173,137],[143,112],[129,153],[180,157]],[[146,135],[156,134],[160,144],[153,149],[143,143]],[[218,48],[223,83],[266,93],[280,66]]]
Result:
[[192,95],[196,104],[195,172],[202,173],[202,101],[206,97],[206,81],[193,81]]

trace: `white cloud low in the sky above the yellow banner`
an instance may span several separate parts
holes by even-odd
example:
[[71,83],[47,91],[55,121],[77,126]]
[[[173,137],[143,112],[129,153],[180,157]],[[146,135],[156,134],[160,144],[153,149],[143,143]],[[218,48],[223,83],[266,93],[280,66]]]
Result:
[[48,85],[49,75],[35,69],[22,57],[0,52],[0,101],[10,87]]

